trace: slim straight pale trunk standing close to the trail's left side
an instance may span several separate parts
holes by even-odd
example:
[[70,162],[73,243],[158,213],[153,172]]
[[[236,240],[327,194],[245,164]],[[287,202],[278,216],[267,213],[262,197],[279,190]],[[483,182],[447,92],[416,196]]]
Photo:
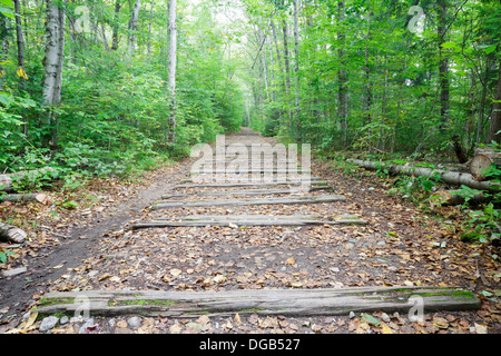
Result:
[[176,61],[177,61],[177,27],[176,0],[169,0],[169,53],[168,53],[168,85],[170,90],[170,117],[168,140],[176,140]]

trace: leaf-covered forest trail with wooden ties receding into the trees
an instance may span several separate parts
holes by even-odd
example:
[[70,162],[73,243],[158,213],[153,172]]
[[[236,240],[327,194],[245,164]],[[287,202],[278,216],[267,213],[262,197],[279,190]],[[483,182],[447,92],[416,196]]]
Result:
[[[224,156],[217,142],[205,147],[209,170],[198,158],[187,160],[144,192],[146,209],[125,205],[116,229],[98,230],[81,264],[46,278],[47,290],[37,290],[40,313],[81,314],[88,303],[92,314],[52,332],[470,333],[477,325],[499,333],[494,305],[479,298],[495,284],[489,269],[495,266],[475,247],[431,244],[446,239],[440,224],[376,185],[321,162],[305,167],[303,157],[275,158],[273,167],[246,157],[249,165],[238,168],[252,167],[250,178],[229,174],[236,166],[228,150],[252,144],[276,141],[244,128],[225,137]],[[223,158],[226,174],[217,166]],[[293,167],[298,171],[286,170]],[[299,301],[277,304],[281,290]],[[439,294],[442,306],[432,303]],[[412,295],[425,298],[423,320],[406,317]],[[173,301],[178,296],[180,304]]]

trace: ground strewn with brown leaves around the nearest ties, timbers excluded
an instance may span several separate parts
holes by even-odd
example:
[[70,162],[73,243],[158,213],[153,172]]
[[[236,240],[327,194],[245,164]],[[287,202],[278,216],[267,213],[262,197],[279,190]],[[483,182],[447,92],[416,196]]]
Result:
[[[0,333],[20,332],[29,312],[48,291],[86,289],[228,290],[236,288],[333,288],[354,286],[454,286],[474,291],[479,310],[436,312],[424,320],[405,315],[285,317],[257,314],[198,318],[115,316],[59,320],[50,333],[501,333],[495,298],[501,266],[499,250],[466,244],[455,235],[453,211],[446,219],[419,210],[386,192],[374,176],[346,175],[328,162],[313,160],[314,175],[327,180],[344,202],[255,207],[180,208],[184,214],[350,212],[364,226],[170,227],[131,230],[171,187],[189,178],[193,159],[145,174],[137,181],[96,180],[73,192],[76,209],[61,205],[0,205],[29,233],[30,240],[11,248],[4,269],[27,271],[0,278]],[[224,190],[224,189],[222,189]],[[62,199],[53,192],[55,200]],[[77,199],[77,198],[75,198]],[[445,221],[444,221],[445,220]],[[0,245],[8,247],[7,244]],[[1,270],[0,270],[1,273]],[[499,298],[498,298],[499,300]],[[22,324],[23,322],[24,324]],[[35,322],[35,320],[32,320]],[[67,322],[61,324],[61,322]],[[28,333],[40,333],[36,320]],[[84,326],[84,328],[81,328]]]

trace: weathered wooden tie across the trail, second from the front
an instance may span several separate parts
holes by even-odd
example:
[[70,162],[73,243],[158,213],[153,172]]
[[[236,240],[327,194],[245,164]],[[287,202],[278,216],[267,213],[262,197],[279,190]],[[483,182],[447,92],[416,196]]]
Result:
[[365,225],[356,215],[322,217],[314,215],[193,215],[176,220],[158,218],[154,221],[137,222],[132,229],[150,227],[203,227],[203,226],[306,226],[306,225]]

